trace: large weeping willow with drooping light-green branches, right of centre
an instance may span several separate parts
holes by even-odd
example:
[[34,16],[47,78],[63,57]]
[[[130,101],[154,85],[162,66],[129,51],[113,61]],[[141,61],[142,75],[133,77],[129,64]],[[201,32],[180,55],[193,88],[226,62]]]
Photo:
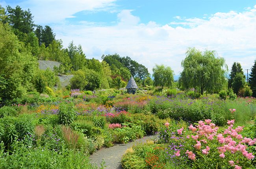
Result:
[[181,63],[183,71],[180,84],[184,89],[195,88],[210,93],[218,92],[226,86],[225,74],[228,67],[216,51],[204,51],[189,48]]

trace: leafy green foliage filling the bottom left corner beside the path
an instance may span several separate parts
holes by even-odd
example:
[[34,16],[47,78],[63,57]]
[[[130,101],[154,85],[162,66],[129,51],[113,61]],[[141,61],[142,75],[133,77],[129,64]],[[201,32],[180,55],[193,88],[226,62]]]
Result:
[[[90,160],[85,154],[76,150],[61,149],[61,151],[54,151],[48,147],[28,149],[22,143],[17,143],[13,152],[9,154],[2,151],[2,144],[0,147],[0,168],[3,169],[97,168],[90,164]],[[31,160],[28,162],[28,159]]]

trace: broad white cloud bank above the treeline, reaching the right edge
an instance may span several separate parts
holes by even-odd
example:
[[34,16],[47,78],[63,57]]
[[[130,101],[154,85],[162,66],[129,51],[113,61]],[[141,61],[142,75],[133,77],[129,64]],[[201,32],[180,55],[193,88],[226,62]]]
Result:
[[119,24],[113,26],[63,24],[53,28],[65,46],[71,40],[81,44],[87,58],[100,59],[102,54],[119,53],[145,64],[150,72],[154,64],[164,64],[171,66],[177,75],[182,71],[180,63],[188,47],[216,50],[229,67],[236,61],[241,62],[243,69],[248,69],[256,59],[256,11],[252,9],[176,22],[189,28],[155,22],[138,24],[139,18],[130,10],[121,11],[117,16]]

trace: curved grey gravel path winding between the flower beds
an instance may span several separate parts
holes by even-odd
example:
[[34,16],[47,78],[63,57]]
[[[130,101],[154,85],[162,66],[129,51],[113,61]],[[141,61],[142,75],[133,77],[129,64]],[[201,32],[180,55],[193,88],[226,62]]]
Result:
[[100,163],[102,159],[104,159],[106,162],[105,165],[107,166],[104,169],[122,169],[121,158],[125,150],[132,147],[134,144],[145,142],[149,139],[157,139],[157,135],[145,136],[127,144],[117,144],[113,147],[102,148],[90,156],[91,164],[96,163],[96,165],[100,167]]

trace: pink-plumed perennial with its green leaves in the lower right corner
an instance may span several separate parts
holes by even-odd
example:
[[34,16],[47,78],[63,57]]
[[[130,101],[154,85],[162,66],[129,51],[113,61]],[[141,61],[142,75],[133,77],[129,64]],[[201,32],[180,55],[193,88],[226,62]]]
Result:
[[[235,110],[232,109],[231,111]],[[186,138],[193,140],[192,143],[195,143],[193,145],[195,149],[186,150],[185,154],[188,159],[194,161],[197,158],[202,158],[200,153],[208,156],[210,153],[218,152],[219,158],[224,161],[228,158],[228,164],[235,169],[246,167],[248,165],[246,160],[253,160],[255,157],[248,152],[247,148],[256,144],[256,138],[243,137],[239,134],[243,131],[243,127],[237,126],[234,128],[234,123],[235,120],[228,120],[228,127],[223,133],[219,132],[219,127],[216,127],[209,119],[199,121],[195,127],[190,125],[189,130],[195,135],[187,135]],[[180,134],[180,130],[177,130],[177,132]],[[180,154],[180,151],[176,151],[176,154]]]

